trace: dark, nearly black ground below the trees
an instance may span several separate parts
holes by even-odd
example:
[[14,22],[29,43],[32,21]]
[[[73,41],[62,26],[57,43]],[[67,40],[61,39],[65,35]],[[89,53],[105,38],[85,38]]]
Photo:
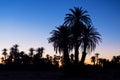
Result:
[[120,67],[100,69],[87,66],[79,68],[79,71],[75,67],[65,68],[64,71],[48,68],[39,70],[19,68],[18,66],[12,70],[0,68],[0,80],[120,80]]

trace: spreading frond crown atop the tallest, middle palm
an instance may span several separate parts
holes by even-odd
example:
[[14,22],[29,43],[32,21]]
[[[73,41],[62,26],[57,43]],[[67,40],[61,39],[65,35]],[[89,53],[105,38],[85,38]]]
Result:
[[88,11],[84,10],[82,7],[74,7],[70,9],[72,13],[66,14],[64,24],[69,26],[74,26],[75,24],[82,23],[84,25],[89,25],[91,19],[89,18]]

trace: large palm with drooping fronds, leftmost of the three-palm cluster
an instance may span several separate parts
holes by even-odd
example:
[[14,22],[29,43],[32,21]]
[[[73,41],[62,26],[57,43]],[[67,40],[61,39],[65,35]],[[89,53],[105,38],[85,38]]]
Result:
[[49,43],[53,43],[56,53],[63,53],[64,63],[69,64],[69,51],[72,49],[70,44],[70,28],[65,25],[56,28],[57,30],[51,32],[52,36],[48,41]]

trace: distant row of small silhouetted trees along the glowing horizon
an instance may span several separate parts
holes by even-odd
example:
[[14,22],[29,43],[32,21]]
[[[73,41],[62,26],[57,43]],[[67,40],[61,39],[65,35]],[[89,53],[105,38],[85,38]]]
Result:
[[[11,47],[10,52],[7,53],[7,49],[4,48],[2,50],[1,62],[4,64],[41,64],[41,63],[48,63],[50,65],[56,65],[59,67],[59,63],[62,66],[64,64],[63,56],[54,55],[53,57],[49,54],[46,54],[46,57],[43,57],[44,48],[40,47],[36,50],[34,48],[29,49],[29,53],[25,53],[24,51],[19,51],[18,45],[15,44]],[[113,56],[111,60],[106,58],[99,58],[99,53],[95,53],[95,56],[91,57],[91,63],[93,65],[99,65],[101,67],[105,66],[106,64],[120,64],[120,55]],[[70,54],[70,63],[75,62],[74,54]],[[41,64],[42,65],[42,64]]]

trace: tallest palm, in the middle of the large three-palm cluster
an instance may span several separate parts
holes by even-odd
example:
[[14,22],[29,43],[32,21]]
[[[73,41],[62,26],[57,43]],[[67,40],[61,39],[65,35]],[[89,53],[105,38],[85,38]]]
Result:
[[75,48],[75,63],[78,63],[81,34],[84,27],[91,24],[91,19],[89,18],[88,12],[83,10],[82,7],[74,7],[70,11],[70,14],[66,14],[64,24],[71,27],[72,42]]

